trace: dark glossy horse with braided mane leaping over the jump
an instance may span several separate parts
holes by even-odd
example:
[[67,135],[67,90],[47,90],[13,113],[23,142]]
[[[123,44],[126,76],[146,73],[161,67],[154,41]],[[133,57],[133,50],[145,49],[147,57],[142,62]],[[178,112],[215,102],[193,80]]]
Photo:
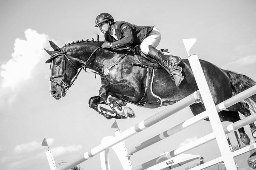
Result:
[[[81,70],[89,68],[99,74],[102,86],[99,95],[89,99],[89,107],[107,119],[125,119],[135,117],[127,103],[146,108],[167,106],[185,98],[198,90],[193,72],[188,60],[182,60],[184,80],[176,87],[170,75],[162,68],[139,64],[132,50],[109,50],[101,48],[104,41],[77,40],[76,43],[65,44],[59,48],[49,41],[53,51],[46,50],[51,57],[45,63],[51,63],[49,95],[56,100],[65,97]],[[145,61],[145,58],[143,59]],[[210,62],[200,60],[205,78],[208,82],[215,105],[250,88],[256,84],[246,75],[221,69]],[[78,71],[79,70],[79,71]],[[106,109],[99,104],[106,104]],[[219,112],[221,121],[236,122],[240,120],[239,113],[247,117],[250,109],[255,112],[256,95]],[[189,106],[194,115],[205,111],[202,102]],[[209,121],[209,119],[205,119]],[[254,141],[256,141],[256,126],[250,124]],[[250,144],[250,138],[244,128],[239,129],[240,139],[244,145]]]

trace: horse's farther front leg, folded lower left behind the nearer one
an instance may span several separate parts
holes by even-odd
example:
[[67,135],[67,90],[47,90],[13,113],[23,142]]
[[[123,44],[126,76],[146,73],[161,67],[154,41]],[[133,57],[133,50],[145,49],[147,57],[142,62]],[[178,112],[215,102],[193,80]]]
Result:
[[[101,107],[99,104],[106,104],[106,102],[100,96],[94,96],[89,99],[89,107],[93,108],[97,113],[103,115],[107,119],[126,119],[127,117],[122,115],[117,115],[113,111]],[[108,105],[108,104],[106,104]]]

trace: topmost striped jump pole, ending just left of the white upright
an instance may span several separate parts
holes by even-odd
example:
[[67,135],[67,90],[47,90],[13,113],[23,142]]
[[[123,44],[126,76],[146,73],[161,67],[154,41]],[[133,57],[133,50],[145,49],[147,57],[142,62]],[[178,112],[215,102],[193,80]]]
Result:
[[90,151],[85,152],[83,155],[81,155],[79,158],[75,159],[73,162],[71,163],[67,163],[59,168],[57,168],[56,170],[68,170],[82,162],[84,162],[85,160],[90,159],[91,157],[99,154],[100,152],[109,149],[110,147],[116,145],[117,143],[121,142],[122,140],[137,134],[143,130],[145,130],[146,128],[149,128],[150,126],[156,124],[157,122],[173,115],[176,112],[179,112],[181,109],[190,106],[191,104],[194,104],[196,102],[200,101],[200,94],[199,91],[195,91],[193,94],[185,97],[184,99],[174,103],[173,105],[163,109],[162,111],[158,112],[157,114],[141,121],[140,123],[132,126],[131,128],[127,129],[126,131],[124,131],[123,133],[115,136],[113,138],[113,141],[111,143],[102,143],[100,145],[98,145],[97,147],[91,149]]

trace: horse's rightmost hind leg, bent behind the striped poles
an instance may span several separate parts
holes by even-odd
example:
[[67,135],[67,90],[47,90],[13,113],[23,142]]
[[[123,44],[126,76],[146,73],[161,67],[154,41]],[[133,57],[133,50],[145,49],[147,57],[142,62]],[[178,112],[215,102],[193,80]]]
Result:
[[[249,105],[247,103],[243,103],[243,102],[239,102],[237,104],[234,104],[230,107],[228,107],[227,109],[233,110],[233,111],[238,111],[240,112],[242,115],[244,115],[244,117],[250,116],[251,112],[249,110]],[[250,128],[251,128],[251,132],[252,132],[252,136],[254,141],[256,141],[256,126],[254,123],[250,123]]]

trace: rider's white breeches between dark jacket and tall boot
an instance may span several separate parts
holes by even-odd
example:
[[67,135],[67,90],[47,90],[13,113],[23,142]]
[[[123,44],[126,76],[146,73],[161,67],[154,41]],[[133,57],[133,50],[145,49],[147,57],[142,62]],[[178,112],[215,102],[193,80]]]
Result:
[[148,54],[148,46],[152,45],[153,47],[157,47],[161,40],[160,31],[157,28],[153,28],[150,34],[141,42],[140,49],[144,54]]

